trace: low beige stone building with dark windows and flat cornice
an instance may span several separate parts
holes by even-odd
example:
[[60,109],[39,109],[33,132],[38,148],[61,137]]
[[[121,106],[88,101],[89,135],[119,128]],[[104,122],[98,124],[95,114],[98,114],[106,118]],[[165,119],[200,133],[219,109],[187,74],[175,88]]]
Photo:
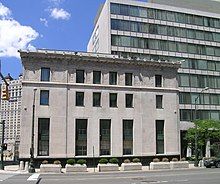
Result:
[[180,154],[180,63],[54,50],[20,55],[21,159],[30,157],[33,104],[36,160]]

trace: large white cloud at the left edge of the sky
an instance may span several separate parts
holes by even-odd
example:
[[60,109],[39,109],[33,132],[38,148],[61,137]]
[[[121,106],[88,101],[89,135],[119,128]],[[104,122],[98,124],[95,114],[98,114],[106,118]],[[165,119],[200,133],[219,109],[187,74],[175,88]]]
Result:
[[33,49],[30,44],[39,34],[30,26],[23,26],[11,16],[11,11],[0,4],[0,57],[18,57],[19,49]]

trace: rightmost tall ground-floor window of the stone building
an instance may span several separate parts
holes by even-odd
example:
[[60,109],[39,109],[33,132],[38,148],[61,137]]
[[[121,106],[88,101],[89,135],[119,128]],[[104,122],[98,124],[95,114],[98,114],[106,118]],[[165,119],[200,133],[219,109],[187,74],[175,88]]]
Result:
[[164,153],[164,120],[156,120],[156,153]]

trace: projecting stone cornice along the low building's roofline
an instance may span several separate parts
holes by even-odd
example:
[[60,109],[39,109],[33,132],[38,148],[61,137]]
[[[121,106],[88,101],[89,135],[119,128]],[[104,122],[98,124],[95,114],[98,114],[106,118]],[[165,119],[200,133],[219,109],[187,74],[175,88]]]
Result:
[[121,58],[116,55],[102,54],[102,53],[89,53],[89,52],[74,52],[74,51],[61,51],[61,50],[43,50],[36,51],[19,50],[22,61],[24,59],[41,59],[44,61],[55,60],[68,60],[68,61],[89,61],[99,63],[111,64],[126,64],[126,65],[139,65],[139,66],[153,66],[153,67],[168,67],[178,69],[181,62],[170,61],[155,61],[146,59],[131,59]]

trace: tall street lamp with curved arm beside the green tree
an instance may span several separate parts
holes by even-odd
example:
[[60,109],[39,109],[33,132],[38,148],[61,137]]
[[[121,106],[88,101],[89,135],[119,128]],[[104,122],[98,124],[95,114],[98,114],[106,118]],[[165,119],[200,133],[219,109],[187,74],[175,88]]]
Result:
[[[200,93],[202,93],[204,91],[207,91],[207,90],[209,90],[209,87],[205,87],[204,89],[202,89],[200,91]],[[195,98],[195,121],[197,119],[197,101],[200,98],[200,95],[201,95],[200,93]],[[194,162],[195,167],[198,167],[198,165],[199,165],[199,162],[198,162],[198,133],[197,133],[197,128],[198,128],[197,124],[195,123],[195,129],[196,129],[196,131],[195,131],[195,162]]]

